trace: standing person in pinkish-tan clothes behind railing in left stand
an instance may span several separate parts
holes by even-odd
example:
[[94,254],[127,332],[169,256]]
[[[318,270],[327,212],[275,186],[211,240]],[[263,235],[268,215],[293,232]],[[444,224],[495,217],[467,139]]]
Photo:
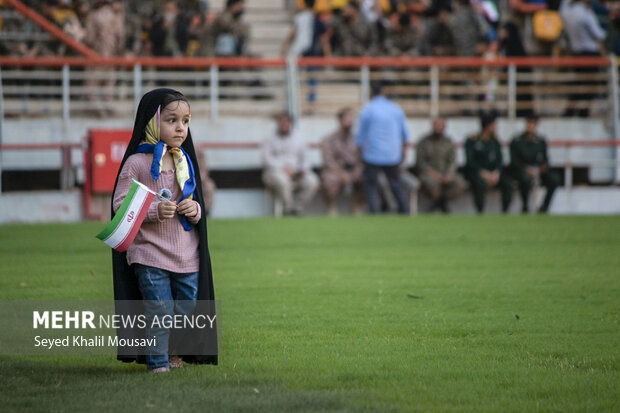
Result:
[[[88,47],[101,57],[118,57],[125,54],[125,28],[123,18],[115,12],[112,3],[119,0],[99,0],[97,7],[86,19],[86,39]],[[90,90],[88,99],[94,103],[99,116],[106,117],[112,110],[109,102],[114,97],[116,69],[114,67],[94,67],[86,71],[86,86]],[[101,96],[97,93],[101,92]],[[102,104],[102,101],[106,104]]]

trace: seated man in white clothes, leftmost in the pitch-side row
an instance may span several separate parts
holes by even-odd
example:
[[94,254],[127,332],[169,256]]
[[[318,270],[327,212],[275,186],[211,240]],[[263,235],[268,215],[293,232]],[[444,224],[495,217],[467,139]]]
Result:
[[[310,169],[307,145],[292,130],[291,115],[276,116],[276,132],[263,143],[263,182],[284,204],[286,215],[297,215],[312,200],[319,179]],[[298,199],[294,191],[299,191]]]

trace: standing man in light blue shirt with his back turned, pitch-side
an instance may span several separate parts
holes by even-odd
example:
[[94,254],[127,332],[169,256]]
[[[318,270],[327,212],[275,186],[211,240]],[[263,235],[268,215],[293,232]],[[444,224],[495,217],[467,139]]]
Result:
[[360,112],[355,136],[364,161],[364,190],[371,214],[381,212],[378,183],[381,171],[396,198],[398,212],[409,213],[399,171],[408,143],[405,113],[385,97],[380,85],[373,85],[373,98]]

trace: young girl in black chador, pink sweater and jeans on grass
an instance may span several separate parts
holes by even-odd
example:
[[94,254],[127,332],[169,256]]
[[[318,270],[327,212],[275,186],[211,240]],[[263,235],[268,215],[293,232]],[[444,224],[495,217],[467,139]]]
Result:
[[[186,305],[183,314],[191,312],[196,300],[214,300],[204,198],[189,122],[189,102],[180,92],[156,89],[144,95],[114,186],[112,216],[134,179],[162,195],[150,205],[129,249],[112,251],[114,299],[143,300],[147,319],[173,315],[175,307],[179,312],[177,300]],[[168,329],[147,327],[147,335],[156,336],[158,346],[147,352],[146,360],[120,353],[117,358],[146,361],[148,370],[157,373],[183,366],[183,359],[168,356]],[[217,355],[183,358],[217,364]]]

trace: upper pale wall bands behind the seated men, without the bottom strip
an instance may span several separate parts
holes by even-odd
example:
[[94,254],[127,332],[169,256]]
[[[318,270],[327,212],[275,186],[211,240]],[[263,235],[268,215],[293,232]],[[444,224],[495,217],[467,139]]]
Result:
[[[3,125],[3,143],[63,143],[81,142],[87,131],[92,128],[131,128],[130,119],[89,118],[71,119],[64,124],[59,118],[40,119],[5,119]],[[275,127],[274,122],[266,118],[222,118],[217,122],[196,119],[192,120],[192,134],[196,142],[261,142]],[[514,134],[523,130],[522,120],[510,121],[500,119],[498,134],[500,139],[509,140]],[[301,119],[297,129],[309,143],[319,142],[326,134],[336,128],[336,120],[331,118]],[[597,119],[548,119],[540,123],[540,132],[553,140],[604,140],[610,139],[610,132],[605,122]],[[409,131],[415,142],[420,136],[428,133],[428,119],[410,119]],[[473,118],[452,118],[448,120],[447,133],[456,142],[463,142],[467,134],[479,130],[478,121]],[[571,160],[575,164],[590,167],[590,181],[595,183],[610,182],[614,171],[609,165],[599,165],[596,160],[613,160],[615,148],[579,148],[570,149]],[[81,171],[82,156],[80,150],[73,153],[74,167],[78,171],[78,182],[83,179]],[[507,155],[507,153],[506,153]],[[53,169],[61,165],[61,154],[55,151],[28,151],[1,153],[4,170],[20,169]],[[459,164],[464,162],[463,153],[459,151]],[[551,148],[550,157],[553,164],[561,164],[565,159],[564,148]],[[207,153],[211,170],[254,169],[261,166],[260,153],[255,149],[218,149]],[[321,158],[318,150],[310,154],[312,165],[320,166]],[[412,164],[413,151],[408,154],[408,163]],[[508,158],[506,158],[508,159]]]

